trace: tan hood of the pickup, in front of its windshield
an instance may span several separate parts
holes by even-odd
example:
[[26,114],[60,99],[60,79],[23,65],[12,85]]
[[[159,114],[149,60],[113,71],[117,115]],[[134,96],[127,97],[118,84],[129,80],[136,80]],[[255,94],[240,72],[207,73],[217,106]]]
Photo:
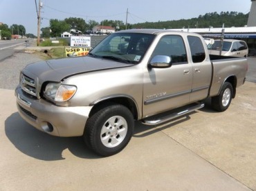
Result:
[[36,77],[43,81],[61,81],[65,77],[74,74],[129,66],[134,65],[87,56],[39,61],[26,66],[23,72],[24,74],[27,74],[28,77],[32,74],[33,78]]

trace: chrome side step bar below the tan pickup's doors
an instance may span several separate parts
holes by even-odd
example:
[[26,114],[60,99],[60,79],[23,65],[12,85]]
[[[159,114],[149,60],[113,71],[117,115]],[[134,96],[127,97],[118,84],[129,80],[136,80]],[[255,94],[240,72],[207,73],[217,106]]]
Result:
[[168,114],[165,117],[159,117],[154,119],[152,117],[149,117],[148,119],[143,119],[142,123],[145,125],[158,125],[158,124],[170,121],[172,119],[181,117],[190,112],[194,112],[195,110],[199,110],[203,107],[204,107],[204,103],[198,103],[197,105],[191,106],[190,108],[186,108],[185,110],[182,110],[180,112],[174,112],[172,114]]

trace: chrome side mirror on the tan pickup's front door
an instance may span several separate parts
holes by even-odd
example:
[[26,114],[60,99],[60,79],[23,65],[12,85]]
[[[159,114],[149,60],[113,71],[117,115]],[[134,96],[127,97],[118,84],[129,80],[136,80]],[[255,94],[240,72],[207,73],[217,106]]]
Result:
[[149,62],[149,68],[169,68],[172,66],[171,57],[156,55]]

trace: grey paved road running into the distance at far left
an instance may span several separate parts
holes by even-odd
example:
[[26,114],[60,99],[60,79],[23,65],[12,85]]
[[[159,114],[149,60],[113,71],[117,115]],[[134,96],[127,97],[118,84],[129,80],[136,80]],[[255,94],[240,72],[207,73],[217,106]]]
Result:
[[10,41],[0,41],[0,61],[12,56],[16,51],[15,47],[17,46],[28,46],[26,41],[30,41],[31,39],[17,39]]

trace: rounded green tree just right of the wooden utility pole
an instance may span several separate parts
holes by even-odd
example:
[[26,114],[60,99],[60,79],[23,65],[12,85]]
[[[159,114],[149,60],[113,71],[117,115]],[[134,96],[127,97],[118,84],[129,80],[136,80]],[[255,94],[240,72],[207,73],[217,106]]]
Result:
[[50,19],[51,37],[60,37],[63,32],[69,31],[70,25],[66,21]]

